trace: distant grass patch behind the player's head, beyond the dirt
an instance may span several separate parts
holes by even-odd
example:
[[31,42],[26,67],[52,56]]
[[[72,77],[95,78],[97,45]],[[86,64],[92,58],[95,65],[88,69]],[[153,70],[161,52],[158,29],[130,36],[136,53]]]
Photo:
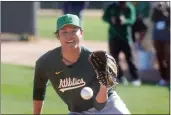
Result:
[[[38,32],[40,37],[45,39],[55,39],[53,32],[56,30],[57,16],[39,16]],[[84,18],[84,38],[85,40],[107,40],[108,24],[100,17]]]

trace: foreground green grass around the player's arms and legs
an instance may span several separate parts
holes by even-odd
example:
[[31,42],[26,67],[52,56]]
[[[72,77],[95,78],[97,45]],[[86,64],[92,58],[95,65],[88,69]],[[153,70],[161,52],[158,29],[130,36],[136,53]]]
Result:
[[[1,64],[1,113],[31,114],[34,68]],[[118,85],[117,92],[133,114],[169,114],[169,91],[165,87]],[[68,113],[67,106],[49,85],[43,113]]]

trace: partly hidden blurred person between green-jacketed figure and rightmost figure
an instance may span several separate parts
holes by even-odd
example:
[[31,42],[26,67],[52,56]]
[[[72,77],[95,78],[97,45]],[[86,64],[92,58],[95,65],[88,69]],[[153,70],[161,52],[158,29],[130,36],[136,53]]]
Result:
[[136,9],[136,21],[132,26],[132,39],[136,48],[142,49],[142,40],[144,39],[148,26],[145,19],[149,17],[150,2],[148,1],[134,1]]

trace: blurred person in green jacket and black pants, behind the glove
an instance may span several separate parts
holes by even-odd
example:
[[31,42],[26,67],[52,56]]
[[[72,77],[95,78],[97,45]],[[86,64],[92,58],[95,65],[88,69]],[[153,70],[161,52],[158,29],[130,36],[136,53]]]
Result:
[[[109,23],[109,50],[111,55],[116,59],[119,65],[119,54],[123,52],[128,63],[132,84],[134,86],[141,85],[141,80],[137,74],[137,69],[133,64],[130,44],[132,44],[131,25],[136,19],[135,7],[131,2],[113,2],[108,5],[104,11],[103,20]],[[123,70],[119,65],[118,82],[127,84],[123,77]]]

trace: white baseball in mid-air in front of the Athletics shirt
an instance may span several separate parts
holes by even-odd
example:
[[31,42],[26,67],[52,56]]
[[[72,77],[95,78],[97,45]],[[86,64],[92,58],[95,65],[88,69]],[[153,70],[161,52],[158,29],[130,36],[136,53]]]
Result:
[[93,90],[90,87],[84,87],[81,90],[81,97],[85,100],[89,100],[93,97]]

